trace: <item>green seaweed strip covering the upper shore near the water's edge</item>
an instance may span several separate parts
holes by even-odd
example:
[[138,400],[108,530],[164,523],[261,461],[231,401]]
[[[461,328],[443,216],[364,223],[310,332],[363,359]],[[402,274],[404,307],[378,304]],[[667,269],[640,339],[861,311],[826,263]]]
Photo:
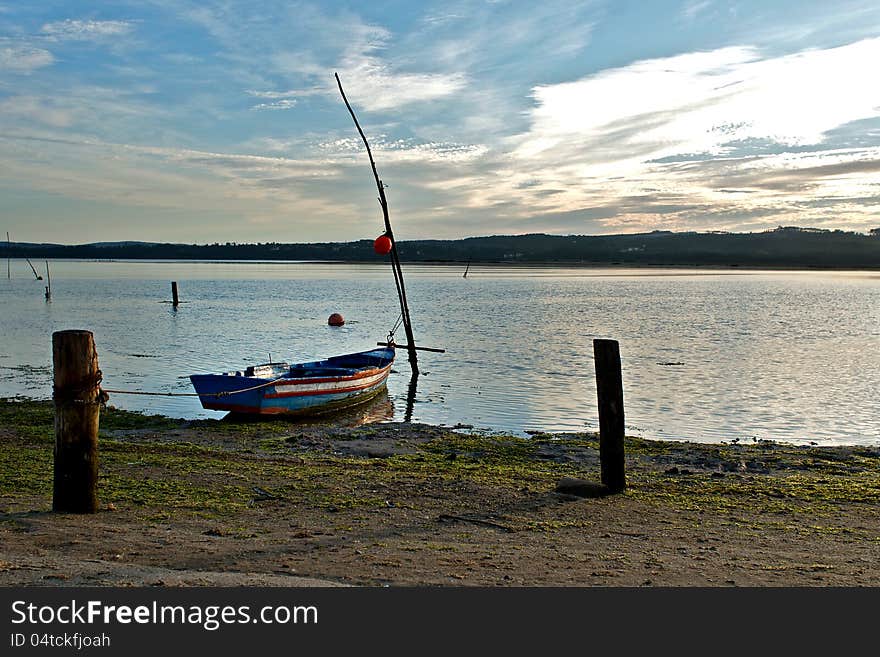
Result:
[[[0,426],[0,500],[48,506],[51,402],[0,400]],[[759,524],[810,518],[799,529],[806,531],[834,531],[843,505],[880,508],[877,448],[628,437],[626,451],[624,496],[646,504],[732,518],[748,512]],[[399,491],[416,507],[420,495],[444,490],[537,499],[562,477],[599,479],[594,434],[485,436],[402,423],[304,429],[113,408],[101,415],[100,463],[102,501],[151,517],[232,517],[252,505],[255,487],[272,491],[263,498],[276,503],[338,510],[382,507],[383,491]],[[531,526],[525,516],[514,524]]]

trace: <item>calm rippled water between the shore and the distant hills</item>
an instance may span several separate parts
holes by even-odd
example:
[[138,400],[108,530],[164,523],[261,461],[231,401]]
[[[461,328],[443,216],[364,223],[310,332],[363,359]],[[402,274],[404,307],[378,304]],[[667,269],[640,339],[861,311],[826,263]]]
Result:
[[[45,269],[43,263],[38,269]],[[51,395],[53,331],[94,332],[104,386],[369,349],[399,308],[385,265],[25,261],[0,280],[0,396]],[[880,273],[405,266],[422,353],[364,413],[513,431],[597,427],[592,339],[620,341],[627,424],[651,438],[880,443]],[[176,280],[184,303],[168,303]],[[330,328],[342,313],[347,324]],[[399,342],[405,340],[398,331]],[[221,417],[192,397],[128,409]]]

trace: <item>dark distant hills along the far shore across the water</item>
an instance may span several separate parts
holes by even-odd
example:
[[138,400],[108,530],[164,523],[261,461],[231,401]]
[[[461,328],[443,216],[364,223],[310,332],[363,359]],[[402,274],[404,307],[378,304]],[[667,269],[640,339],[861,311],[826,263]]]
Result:
[[[629,266],[880,268],[880,229],[869,234],[780,227],[760,233],[494,235],[398,242],[405,262]],[[0,244],[0,257],[381,262],[371,240],[315,244]]]

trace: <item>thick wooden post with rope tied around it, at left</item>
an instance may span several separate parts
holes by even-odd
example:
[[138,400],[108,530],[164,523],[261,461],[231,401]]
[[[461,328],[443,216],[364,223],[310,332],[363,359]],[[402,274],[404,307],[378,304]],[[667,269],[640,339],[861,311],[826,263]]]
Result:
[[53,511],[98,510],[98,421],[101,370],[90,331],[52,334],[55,366]]

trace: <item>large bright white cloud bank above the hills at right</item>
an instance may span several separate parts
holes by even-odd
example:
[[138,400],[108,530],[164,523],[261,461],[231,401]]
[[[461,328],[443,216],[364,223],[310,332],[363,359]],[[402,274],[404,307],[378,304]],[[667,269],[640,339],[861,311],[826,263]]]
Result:
[[[873,61],[876,38],[771,58],[728,47],[537,86],[529,129],[510,140],[510,198],[542,213],[617,207],[609,226],[644,229],[751,210],[772,222],[795,218],[794,208],[817,196],[876,196],[876,133],[861,148],[832,141],[846,126],[880,119]],[[528,188],[516,186],[523,180]],[[851,225],[870,221],[870,205],[846,211],[841,220]]]

